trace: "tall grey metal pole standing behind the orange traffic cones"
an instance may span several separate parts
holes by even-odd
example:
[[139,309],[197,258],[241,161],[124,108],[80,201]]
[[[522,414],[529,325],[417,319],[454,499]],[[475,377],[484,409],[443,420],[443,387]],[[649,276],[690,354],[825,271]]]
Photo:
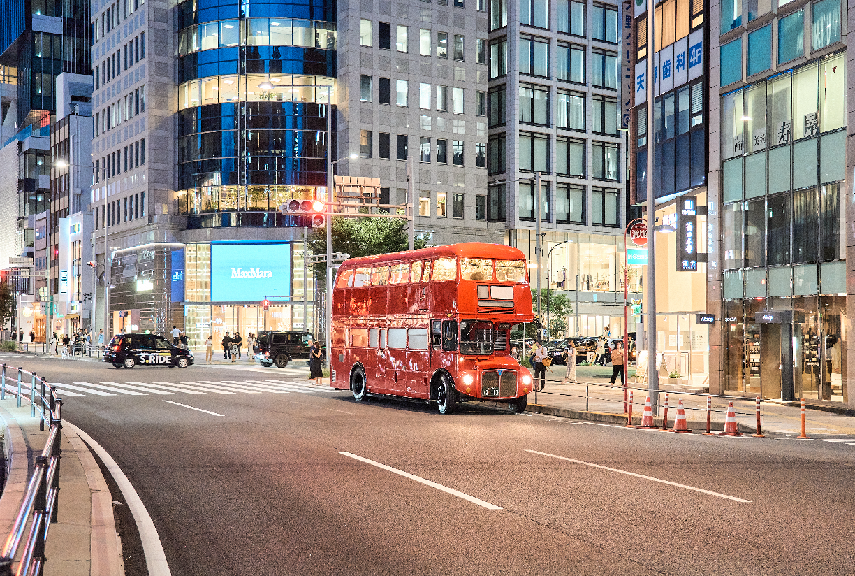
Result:
[[647,3],[647,389],[652,401],[658,399],[659,376],[656,365],[656,200],[653,198],[653,157],[656,150],[653,134],[653,4]]

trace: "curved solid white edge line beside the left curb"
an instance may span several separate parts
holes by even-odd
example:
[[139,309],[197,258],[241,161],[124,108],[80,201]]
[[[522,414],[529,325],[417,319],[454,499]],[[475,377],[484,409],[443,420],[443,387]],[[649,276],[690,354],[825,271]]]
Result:
[[75,434],[89,444],[89,447],[98,455],[98,458],[101,459],[104,466],[107,467],[107,470],[113,476],[113,479],[115,479],[115,483],[119,486],[122,496],[125,496],[127,508],[130,508],[131,514],[133,514],[133,520],[136,522],[137,530],[139,531],[139,538],[143,542],[145,564],[149,568],[150,576],[171,576],[172,572],[169,570],[166,555],[163,553],[163,545],[160,537],[157,536],[155,523],[151,520],[149,511],[145,509],[145,505],[140,499],[139,494],[137,494],[136,490],[133,490],[133,484],[127,479],[125,472],[121,471],[121,468],[115,463],[115,460],[108,454],[107,450],[103,449],[101,444],[92,440],[91,436],[71,422],[68,422],[68,420],[63,419],[62,425],[71,428]]

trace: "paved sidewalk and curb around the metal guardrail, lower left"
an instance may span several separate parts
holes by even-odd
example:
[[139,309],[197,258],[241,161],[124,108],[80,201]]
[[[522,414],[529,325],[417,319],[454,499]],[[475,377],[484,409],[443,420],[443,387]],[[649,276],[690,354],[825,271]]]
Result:
[[[0,401],[0,425],[9,479],[0,496],[0,537],[11,530],[32,474],[29,462],[41,453],[48,426],[38,431],[27,401]],[[46,576],[124,576],[121,542],[116,533],[113,498],[89,448],[70,427],[62,428],[62,464],[57,519],[45,544]],[[21,548],[23,544],[21,544]]]

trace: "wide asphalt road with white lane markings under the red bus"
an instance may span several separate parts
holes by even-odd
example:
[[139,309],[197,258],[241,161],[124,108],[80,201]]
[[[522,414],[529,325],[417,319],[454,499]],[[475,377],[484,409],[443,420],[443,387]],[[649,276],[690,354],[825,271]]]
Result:
[[[0,360],[78,386],[63,417],[130,478],[175,575],[855,573],[847,442],[638,431],[491,404],[440,416],[311,388],[302,366]],[[179,382],[204,393],[144,391]]]

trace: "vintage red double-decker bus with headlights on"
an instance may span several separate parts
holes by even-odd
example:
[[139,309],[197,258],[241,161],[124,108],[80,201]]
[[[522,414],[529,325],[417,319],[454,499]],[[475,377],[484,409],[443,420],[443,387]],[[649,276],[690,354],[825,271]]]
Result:
[[510,355],[510,330],[534,320],[522,251],[471,242],[351,258],[333,288],[334,388],[526,408],[531,373]]

